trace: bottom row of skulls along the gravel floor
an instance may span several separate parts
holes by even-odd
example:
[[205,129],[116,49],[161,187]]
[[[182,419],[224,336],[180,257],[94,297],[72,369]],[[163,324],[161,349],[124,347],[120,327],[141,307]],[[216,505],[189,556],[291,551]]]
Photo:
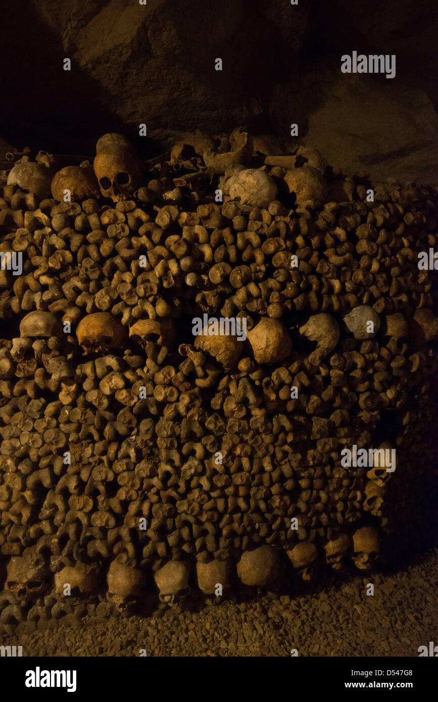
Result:
[[[341,534],[324,545],[326,563],[334,571],[343,569],[348,557],[352,558],[357,569],[369,571],[380,552],[380,538],[374,527],[360,527],[352,537]],[[312,581],[317,571],[318,550],[312,542],[297,543],[286,552],[296,574],[303,581]],[[237,562],[239,581],[251,588],[275,588],[281,574],[281,560],[277,549],[263,545],[246,551]],[[233,577],[230,559],[213,559],[210,562],[197,562],[197,585],[204,595],[218,595],[226,592]],[[32,602],[46,592],[51,571],[48,563],[39,552],[27,549],[22,556],[13,556],[8,562],[6,589],[20,604]],[[190,594],[190,567],[186,562],[171,560],[154,573],[159,600],[173,605]],[[96,565],[81,567],[64,566],[55,573],[55,593],[65,595],[65,585],[69,593],[79,597],[91,596],[99,588],[100,569]],[[145,571],[128,564],[114,561],[107,573],[107,599],[119,610],[128,609],[130,604],[141,599],[147,587]]]

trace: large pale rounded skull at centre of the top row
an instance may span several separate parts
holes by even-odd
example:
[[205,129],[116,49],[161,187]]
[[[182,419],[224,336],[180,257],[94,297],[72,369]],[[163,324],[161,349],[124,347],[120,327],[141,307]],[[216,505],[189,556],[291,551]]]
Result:
[[274,180],[265,171],[247,168],[226,180],[224,192],[232,200],[239,199],[242,205],[267,207],[276,199],[278,190]]

